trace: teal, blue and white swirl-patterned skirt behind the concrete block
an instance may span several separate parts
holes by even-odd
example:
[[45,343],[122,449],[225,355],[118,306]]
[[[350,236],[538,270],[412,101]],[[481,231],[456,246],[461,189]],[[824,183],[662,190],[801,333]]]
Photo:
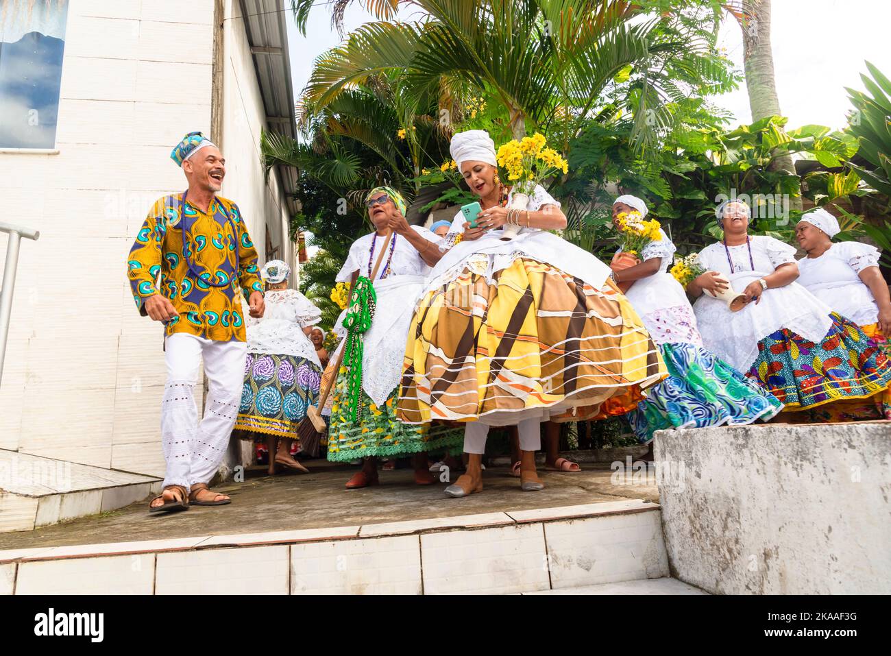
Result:
[[647,389],[647,398],[628,414],[642,443],[656,430],[743,426],[780,412],[782,404],[714,353],[694,344],[663,344],[670,374]]

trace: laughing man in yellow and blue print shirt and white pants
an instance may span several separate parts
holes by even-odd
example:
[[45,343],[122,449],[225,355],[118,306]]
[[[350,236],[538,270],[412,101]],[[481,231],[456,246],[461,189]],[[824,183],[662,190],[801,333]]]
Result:
[[[188,189],[155,202],[127,261],[140,314],[165,324],[161,441],[167,473],[151,512],[230,502],[207,484],[225,456],[241,398],[247,353],[241,292],[251,316],[263,316],[265,308],[247,225],[233,201],[216,195],[225,177],[223,155],[192,132],[170,158],[183,169]],[[202,357],[209,390],[199,421],[194,386]]]

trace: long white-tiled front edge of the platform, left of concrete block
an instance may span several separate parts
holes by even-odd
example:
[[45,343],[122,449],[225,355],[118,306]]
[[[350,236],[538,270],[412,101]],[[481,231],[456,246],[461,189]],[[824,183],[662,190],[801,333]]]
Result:
[[0,552],[0,594],[517,594],[663,578],[658,504]]

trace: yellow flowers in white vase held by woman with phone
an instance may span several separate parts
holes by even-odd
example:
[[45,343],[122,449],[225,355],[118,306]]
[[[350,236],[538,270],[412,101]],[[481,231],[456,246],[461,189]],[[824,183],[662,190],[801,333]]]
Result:
[[[510,209],[526,209],[535,185],[560,171],[566,173],[568,164],[560,153],[548,148],[544,135],[536,132],[517,141],[512,139],[498,149],[498,166],[507,173],[511,184]],[[504,225],[503,239],[519,234],[519,225]]]

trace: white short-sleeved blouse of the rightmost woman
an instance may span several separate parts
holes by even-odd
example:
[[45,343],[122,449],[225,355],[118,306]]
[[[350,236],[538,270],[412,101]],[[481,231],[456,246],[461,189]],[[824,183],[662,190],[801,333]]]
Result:
[[798,283],[857,325],[879,321],[879,306],[860,272],[879,266],[879,250],[859,242],[838,242],[819,258],[798,260]]

